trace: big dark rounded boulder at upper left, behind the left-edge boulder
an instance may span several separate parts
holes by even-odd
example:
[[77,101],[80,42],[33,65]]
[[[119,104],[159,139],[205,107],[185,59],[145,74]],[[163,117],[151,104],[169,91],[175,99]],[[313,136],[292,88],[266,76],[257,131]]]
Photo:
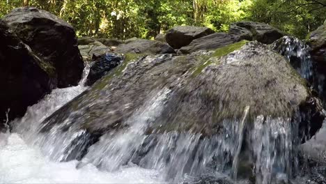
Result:
[[45,10],[15,8],[3,17],[10,29],[52,68],[59,88],[75,86],[81,79],[84,61],[75,31],[68,23]]

